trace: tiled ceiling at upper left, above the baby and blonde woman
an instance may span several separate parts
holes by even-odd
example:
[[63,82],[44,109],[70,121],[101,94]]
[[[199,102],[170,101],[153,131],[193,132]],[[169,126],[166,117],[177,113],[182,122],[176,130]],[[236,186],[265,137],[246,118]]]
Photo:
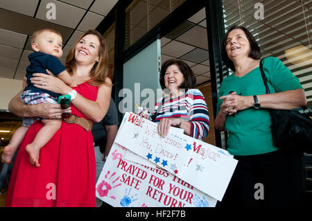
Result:
[[[54,28],[62,33],[63,57],[79,35],[95,29],[118,0],[1,0],[0,77],[22,79],[32,52],[30,36],[39,28]],[[48,3],[55,4],[55,19],[47,19]]]

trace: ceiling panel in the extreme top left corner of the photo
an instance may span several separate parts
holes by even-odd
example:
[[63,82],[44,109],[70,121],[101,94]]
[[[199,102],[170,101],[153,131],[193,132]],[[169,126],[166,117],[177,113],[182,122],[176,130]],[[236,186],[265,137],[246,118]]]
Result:
[[0,8],[33,17],[39,0],[1,0]]

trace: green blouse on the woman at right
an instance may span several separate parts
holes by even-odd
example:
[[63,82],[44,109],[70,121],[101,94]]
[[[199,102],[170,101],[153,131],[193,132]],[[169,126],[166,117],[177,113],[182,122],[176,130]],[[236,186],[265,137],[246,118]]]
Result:
[[[263,60],[263,71],[268,79],[270,93],[302,89],[298,78],[285,67],[281,60],[268,57]],[[261,78],[260,68],[253,69],[239,78],[232,74],[221,84],[218,96],[236,91],[241,96],[266,94],[266,87]],[[223,100],[218,99],[218,109]],[[237,116],[227,116],[225,130],[228,130],[227,150],[234,155],[246,156],[264,154],[277,150],[272,143],[270,130],[271,118],[266,109],[250,107],[238,112]]]

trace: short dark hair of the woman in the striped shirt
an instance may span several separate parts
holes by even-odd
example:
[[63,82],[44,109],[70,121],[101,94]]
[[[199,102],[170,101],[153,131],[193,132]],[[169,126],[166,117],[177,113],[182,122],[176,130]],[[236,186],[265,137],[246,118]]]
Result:
[[164,83],[164,76],[166,73],[166,70],[169,66],[171,65],[177,65],[179,67],[181,73],[183,74],[184,77],[184,82],[179,86],[179,88],[184,88],[184,89],[191,89],[194,88],[195,83],[196,83],[196,78],[194,75],[194,72],[192,69],[189,67],[189,65],[182,60],[178,59],[170,59],[166,60],[166,62],[162,63],[162,70],[160,71],[160,77],[159,77],[159,82],[160,85],[162,86],[162,89],[166,88],[166,85]]

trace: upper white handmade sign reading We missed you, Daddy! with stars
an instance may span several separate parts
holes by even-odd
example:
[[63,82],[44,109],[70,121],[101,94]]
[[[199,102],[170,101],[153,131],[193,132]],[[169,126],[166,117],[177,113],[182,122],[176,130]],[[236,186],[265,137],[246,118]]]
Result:
[[162,138],[156,123],[133,113],[125,114],[115,143],[219,201],[237,164],[227,151],[174,130]]

